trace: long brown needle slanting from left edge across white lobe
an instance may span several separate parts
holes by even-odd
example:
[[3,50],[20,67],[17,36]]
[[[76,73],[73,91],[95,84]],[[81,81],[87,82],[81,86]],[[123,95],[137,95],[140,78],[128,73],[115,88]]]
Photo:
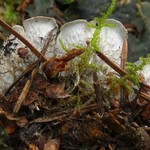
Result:
[[0,19],[0,25],[6,28],[11,34],[17,37],[21,42],[23,42],[38,58],[41,58],[42,61],[47,61],[47,58],[39,52],[28,40],[16,32],[10,25]]

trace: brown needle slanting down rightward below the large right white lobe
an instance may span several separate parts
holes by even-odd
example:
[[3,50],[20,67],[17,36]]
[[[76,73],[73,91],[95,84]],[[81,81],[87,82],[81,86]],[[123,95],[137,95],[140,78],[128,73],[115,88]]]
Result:
[[[119,67],[116,63],[111,61],[105,54],[102,52],[96,52],[96,54],[105,62],[107,63],[111,68],[113,68],[116,72],[118,72],[121,76],[124,76],[127,74],[125,70],[123,70],[121,67]],[[141,96],[149,101],[150,96],[144,92],[141,92]]]

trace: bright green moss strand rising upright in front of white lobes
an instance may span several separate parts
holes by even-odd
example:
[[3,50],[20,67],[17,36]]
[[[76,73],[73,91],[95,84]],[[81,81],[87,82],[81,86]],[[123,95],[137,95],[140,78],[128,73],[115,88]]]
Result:
[[91,28],[95,28],[95,31],[93,33],[93,38],[88,45],[88,47],[85,50],[85,53],[80,56],[80,62],[79,62],[79,70],[82,72],[84,68],[88,67],[89,69],[92,67],[94,71],[97,71],[98,69],[102,69],[102,66],[97,65],[97,64],[89,64],[89,60],[91,59],[92,53],[96,51],[100,51],[101,48],[99,46],[99,41],[100,41],[100,32],[103,27],[115,27],[114,24],[109,24],[106,22],[106,19],[112,14],[114,8],[115,8],[116,0],[112,0],[109,8],[105,13],[102,14],[101,18],[94,18],[93,22],[89,23],[89,26]]

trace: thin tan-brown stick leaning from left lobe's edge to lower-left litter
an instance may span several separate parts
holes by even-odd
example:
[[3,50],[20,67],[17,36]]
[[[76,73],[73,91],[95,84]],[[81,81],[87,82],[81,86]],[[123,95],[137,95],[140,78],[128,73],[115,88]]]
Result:
[[[53,29],[53,30],[55,30],[55,29]],[[45,41],[43,50],[41,51],[42,54],[46,53],[46,50],[47,50],[48,45],[49,45],[49,42],[51,42],[51,39],[52,39],[51,36],[52,36],[53,30],[49,33],[49,35],[48,35],[48,37],[47,37],[47,39]],[[42,60],[42,58],[40,58],[38,60],[39,61],[39,63],[38,63],[39,65],[40,65],[41,60]],[[24,86],[24,88],[23,88],[23,90],[22,90],[22,92],[21,92],[21,94],[20,94],[20,96],[18,98],[18,101],[17,101],[17,103],[16,103],[16,105],[15,105],[15,107],[13,109],[14,113],[17,113],[20,110],[20,107],[21,107],[23,101],[25,100],[25,98],[26,98],[26,96],[28,94],[28,91],[29,91],[29,89],[31,87],[32,81],[33,81],[34,77],[36,76],[36,74],[38,72],[38,69],[39,69],[39,66],[36,66],[36,68],[34,68],[34,70],[31,73],[31,79],[27,80],[27,82],[26,82],[26,84],[25,84],[25,86]]]

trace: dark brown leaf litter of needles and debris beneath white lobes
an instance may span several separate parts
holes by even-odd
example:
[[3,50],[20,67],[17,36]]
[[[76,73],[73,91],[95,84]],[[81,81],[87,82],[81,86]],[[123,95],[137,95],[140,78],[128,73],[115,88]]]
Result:
[[[120,75],[126,74],[124,67],[116,66],[105,54],[96,53]],[[30,72],[27,71],[6,95],[0,95],[0,123],[8,135],[3,139],[5,148],[149,149],[149,85],[142,82],[141,89],[135,89],[134,98],[129,98],[124,91],[125,101],[121,103],[113,89],[105,87],[108,80],[99,80],[97,73],[92,72],[92,78],[88,79],[92,80],[91,85],[83,82],[86,79],[83,76],[69,92],[71,75],[63,80],[64,76],[61,79],[57,74],[68,70],[64,65],[68,56],[51,59],[54,65],[56,59],[56,64],[63,67],[60,70],[52,67],[53,78],[36,72],[18,111],[14,111],[14,107],[24,85],[32,78]],[[39,67],[37,64],[35,67]],[[58,72],[55,74],[55,71]],[[66,82],[68,79],[70,82]],[[118,89],[120,93],[121,86]]]

